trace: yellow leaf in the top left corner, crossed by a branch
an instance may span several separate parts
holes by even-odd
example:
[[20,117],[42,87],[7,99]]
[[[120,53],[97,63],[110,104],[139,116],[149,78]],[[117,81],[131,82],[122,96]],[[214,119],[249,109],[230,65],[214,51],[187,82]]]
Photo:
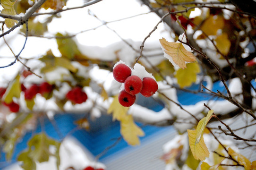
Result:
[[[1,0],[1,5],[4,8],[1,11],[2,14],[12,15],[12,16],[16,15],[16,11],[14,9],[15,2],[11,2],[10,0]],[[15,23],[17,23],[17,20],[5,18],[4,22],[5,22],[5,25],[8,28],[10,28],[14,26]]]

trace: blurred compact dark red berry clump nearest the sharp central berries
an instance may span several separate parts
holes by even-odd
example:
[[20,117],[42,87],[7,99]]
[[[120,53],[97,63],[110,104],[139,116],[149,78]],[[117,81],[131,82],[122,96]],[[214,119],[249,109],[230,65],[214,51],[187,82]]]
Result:
[[87,100],[87,95],[81,87],[74,87],[66,94],[66,98],[73,103],[81,104]]

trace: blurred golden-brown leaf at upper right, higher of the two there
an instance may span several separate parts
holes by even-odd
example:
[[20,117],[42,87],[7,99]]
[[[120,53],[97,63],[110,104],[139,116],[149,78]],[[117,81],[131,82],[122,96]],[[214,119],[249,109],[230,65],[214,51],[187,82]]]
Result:
[[210,16],[208,17],[203,25],[201,26],[202,31],[206,35],[216,35],[218,29],[222,29],[224,26],[224,19],[220,16]]

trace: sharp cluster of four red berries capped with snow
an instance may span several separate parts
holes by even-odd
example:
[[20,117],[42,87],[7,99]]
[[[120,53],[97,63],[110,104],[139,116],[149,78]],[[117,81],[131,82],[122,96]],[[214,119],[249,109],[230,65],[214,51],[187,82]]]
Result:
[[124,107],[130,107],[136,100],[137,93],[145,97],[152,96],[158,89],[156,81],[151,77],[131,76],[131,69],[125,64],[118,64],[113,69],[113,76],[116,81],[124,83],[124,90],[119,93],[119,103]]

